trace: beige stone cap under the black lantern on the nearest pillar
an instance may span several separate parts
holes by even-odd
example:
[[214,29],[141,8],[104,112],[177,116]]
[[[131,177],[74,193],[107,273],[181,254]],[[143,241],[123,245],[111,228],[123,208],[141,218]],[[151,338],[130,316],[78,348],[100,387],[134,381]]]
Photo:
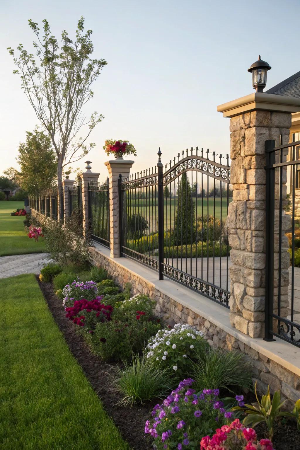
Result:
[[284,95],[265,94],[254,92],[245,97],[231,100],[217,106],[218,112],[223,112],[223,117],[234,117],[239,114],[255,110],[298,112],[300,111],[300,99],[286,97]]

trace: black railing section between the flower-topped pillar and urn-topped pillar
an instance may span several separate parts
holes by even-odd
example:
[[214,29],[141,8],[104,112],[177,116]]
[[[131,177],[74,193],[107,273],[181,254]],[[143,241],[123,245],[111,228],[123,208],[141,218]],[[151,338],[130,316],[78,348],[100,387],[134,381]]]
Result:
[[90,234],[92,239],[110,247],[109,183],[88,184]]

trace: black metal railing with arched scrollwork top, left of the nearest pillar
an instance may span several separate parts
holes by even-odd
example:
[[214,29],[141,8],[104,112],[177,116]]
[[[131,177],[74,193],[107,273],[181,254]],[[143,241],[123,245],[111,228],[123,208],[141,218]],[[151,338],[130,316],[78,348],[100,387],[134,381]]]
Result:
[[157,166],[120,177],[121,256],[228,307],[230,166],[208,154],[186,150],[164,171],[159,150]]

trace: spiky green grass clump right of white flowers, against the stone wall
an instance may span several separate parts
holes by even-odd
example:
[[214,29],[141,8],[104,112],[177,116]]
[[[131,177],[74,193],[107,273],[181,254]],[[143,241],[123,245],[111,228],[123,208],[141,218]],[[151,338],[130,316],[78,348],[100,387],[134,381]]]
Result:
[[197,355],[190,376],[196,380],[197,391],[252,387],[251,368],[242,353],[206,348],[206,355]]

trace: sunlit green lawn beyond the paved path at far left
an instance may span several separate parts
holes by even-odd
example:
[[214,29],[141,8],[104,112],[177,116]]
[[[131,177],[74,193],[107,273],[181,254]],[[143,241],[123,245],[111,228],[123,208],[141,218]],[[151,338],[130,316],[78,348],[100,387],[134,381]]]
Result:
[[24,202],[0,201],[0,256],[45,252],[44,239],[29,239],[24,231],[25,216],[11,216]]

